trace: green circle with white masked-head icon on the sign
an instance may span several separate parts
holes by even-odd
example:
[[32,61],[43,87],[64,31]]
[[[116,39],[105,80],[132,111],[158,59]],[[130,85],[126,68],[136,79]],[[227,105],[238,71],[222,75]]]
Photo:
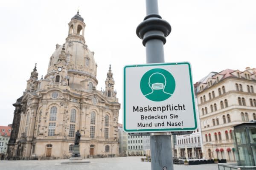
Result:
[[175,91],[175,79],[169,71],[154,68],[141,78],[140,90],[146,98],[160,102],[172,96]]

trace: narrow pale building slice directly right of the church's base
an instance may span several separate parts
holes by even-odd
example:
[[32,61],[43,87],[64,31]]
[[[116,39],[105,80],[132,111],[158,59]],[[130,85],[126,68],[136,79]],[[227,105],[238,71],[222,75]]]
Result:
[[122,127],[122,124],[118,124],[119,132],[119,156],[127,156],[127,144],[128,133],[126,133]]

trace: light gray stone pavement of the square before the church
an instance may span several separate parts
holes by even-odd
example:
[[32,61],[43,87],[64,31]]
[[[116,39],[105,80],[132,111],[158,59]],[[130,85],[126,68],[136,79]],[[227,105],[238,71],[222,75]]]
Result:
[[[150,162],[141,157],[86,159],[90,164],[61,165],[61,160],[0,161],[0,170],[151,170]],[[217,164],[174,165],[174,170],[218,170]]]

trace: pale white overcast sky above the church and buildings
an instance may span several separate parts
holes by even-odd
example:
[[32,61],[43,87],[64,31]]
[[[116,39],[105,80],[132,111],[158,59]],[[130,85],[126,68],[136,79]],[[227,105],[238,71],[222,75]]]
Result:
[[[256,67],[255,0],[159,0],[158,6],[172,26],[165,61],[191,62],[194,83],[210,71]],[[98,64],[97,89],[105,88],[111,64],[122,105],[123,66],[146,62],[135,33],[146,15],[145,0],[2,0],[0,125],[12,123],[12,103],[22,96],[35,62],[39,77],[47,74],[49,57],[57,43],[65,42],[67,23],[78,7],[86,44]]]

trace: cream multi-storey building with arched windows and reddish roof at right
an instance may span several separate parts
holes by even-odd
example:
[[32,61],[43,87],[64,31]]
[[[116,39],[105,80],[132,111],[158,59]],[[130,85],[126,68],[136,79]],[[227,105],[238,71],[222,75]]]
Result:
[[256,119],[256,69],[212,72],[197,83],[204,157],[236,161],[233,126]]

